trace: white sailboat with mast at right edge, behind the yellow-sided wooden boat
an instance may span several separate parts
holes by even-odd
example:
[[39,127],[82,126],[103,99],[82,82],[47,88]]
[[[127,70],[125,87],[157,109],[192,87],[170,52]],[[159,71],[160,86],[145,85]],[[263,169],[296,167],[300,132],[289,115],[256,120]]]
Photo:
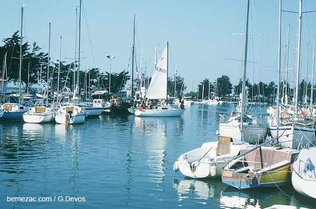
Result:
[[[302,0],[299,0],[299,24],[298,24],[298,55],[295,84],[295,111],[293,114],[282,114],[270,117],[270,132],[273,138],[278,138],[280,145],[291,149],[300,149],[312,143],[315,144],[314,121],[308,119],[304,111],[299,110],[299,80],[300,80],[300,51],[301,51],[301,24],[302,24]],[[279,101],[278,101],[279,102]],[[278,109],[278,108],[277,108]],[[288,112],[287,112],[288,113]]]

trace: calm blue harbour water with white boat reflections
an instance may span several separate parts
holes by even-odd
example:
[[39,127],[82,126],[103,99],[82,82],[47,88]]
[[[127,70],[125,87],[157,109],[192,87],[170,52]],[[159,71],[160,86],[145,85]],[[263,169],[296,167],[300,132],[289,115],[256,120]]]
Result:
[[[0,124],[0,208],[315,207],[291,186],[240,192],[174,173],[177,157],[216,139],[226,106],[195,105],[181,118],[102,115],[78,125]],[[85,197],[85,202],[7,202]]]

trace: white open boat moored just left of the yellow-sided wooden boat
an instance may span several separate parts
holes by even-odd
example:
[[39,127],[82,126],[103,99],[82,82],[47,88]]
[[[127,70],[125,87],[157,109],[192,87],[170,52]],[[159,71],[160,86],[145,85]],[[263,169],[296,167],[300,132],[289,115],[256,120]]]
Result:
[[230,152],[217,155],[218,142],[204,143],[200,148],[186,152],[179,156],[174,163],[174,171],[179,170],[183,175],[191,178],[219,178],[221,170],[237,156],[241,148],[248,143],[230,143]]

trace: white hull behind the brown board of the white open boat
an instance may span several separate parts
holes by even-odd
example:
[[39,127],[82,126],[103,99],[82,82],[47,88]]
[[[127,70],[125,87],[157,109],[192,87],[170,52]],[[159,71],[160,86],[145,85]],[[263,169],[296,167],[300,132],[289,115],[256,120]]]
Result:
[[[256,124],[244,124],[244,138],[243,140],[248,143],[261,143],[266,139],[268,134],[268,127],[259,126]],[[219,135],[230,137],[232,139],[241,140],[241,127],[240,125],[229,125],[226,123],[219,124]]]

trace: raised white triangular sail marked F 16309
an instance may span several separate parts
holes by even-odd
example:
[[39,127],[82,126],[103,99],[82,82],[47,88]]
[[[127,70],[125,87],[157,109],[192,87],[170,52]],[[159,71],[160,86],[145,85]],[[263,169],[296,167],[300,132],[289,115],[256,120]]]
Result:
[[159,58],[155,71],[151,77],[146,97],[148,99],[167,98],[167,77],[168,77],[168,45]]

